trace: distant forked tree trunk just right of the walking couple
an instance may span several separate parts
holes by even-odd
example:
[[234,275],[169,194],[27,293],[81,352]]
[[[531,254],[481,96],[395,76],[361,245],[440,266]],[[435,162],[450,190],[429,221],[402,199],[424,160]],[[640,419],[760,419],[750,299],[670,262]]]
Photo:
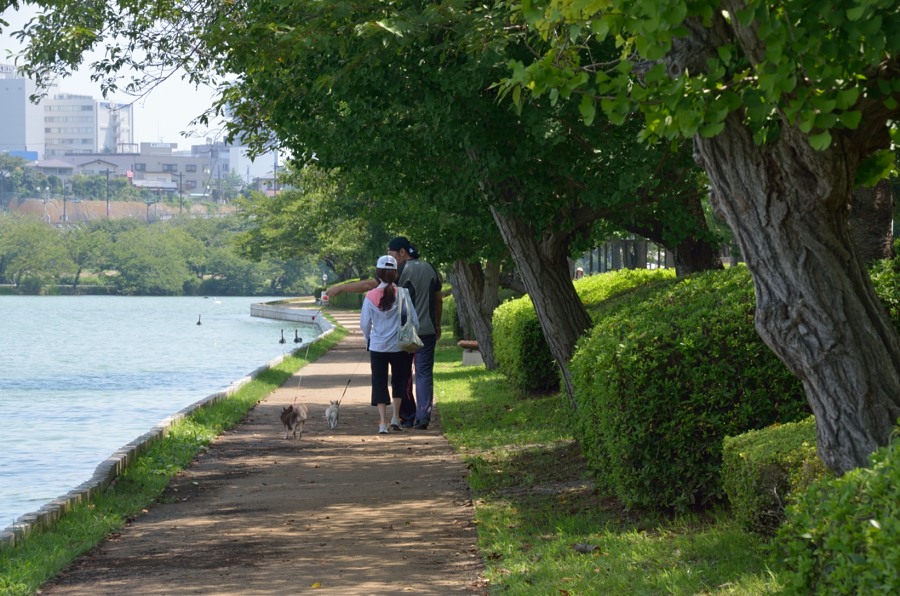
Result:
[[491,319],[497,308],[500,288],[500,265],[494,262],[466,263],[453,262],[455,289],[459,291],[456,308],[465,313],[465,319],[472,325],[478,350],[489,370],[497,368],[494,359],[494,326]]

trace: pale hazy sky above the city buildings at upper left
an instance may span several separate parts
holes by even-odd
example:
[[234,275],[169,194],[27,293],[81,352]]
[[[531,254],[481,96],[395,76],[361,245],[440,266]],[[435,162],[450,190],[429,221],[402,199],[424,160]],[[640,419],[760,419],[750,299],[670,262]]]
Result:
[[[31,7],[24,7],[16,12],[9,9],[3,13],[3,19],[10,26],[0,32],[0,64],[15,64],[9,52],[19,52],[21,46],[12,37],[11,32],[22,28],[28,19],[35,14]],[[88,56],[86,62],[99,55]],[[92,83],[89,73],[75,73],[58,83],[59,92],[78,95],[91,95],[97,100],[103,99],[99,83]],[[135,98],[125,94],[107,98],[118,103],[131,103]],[[213,91],[201,87],[195,89],[191,84],[177,77],[170,78],[154,89],[150,94],[134,103],[134,140],[141,142],[178,143],[179,149],[187,149],[194,144],[202,144],[207,136],[215,137],[217,131],[190,127],[190,122],[202,114],[214,99]],[[192,130],[199,134],[198,138],[185,138],[181,131]]]

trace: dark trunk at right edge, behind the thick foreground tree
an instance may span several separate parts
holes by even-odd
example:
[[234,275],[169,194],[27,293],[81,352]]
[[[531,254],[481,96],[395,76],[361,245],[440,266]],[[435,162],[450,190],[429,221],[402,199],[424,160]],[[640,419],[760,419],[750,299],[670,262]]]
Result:
[[857,188],[850,203],[850,232],[863,263],[894,256],[894,194],[882,180],[875,188]]

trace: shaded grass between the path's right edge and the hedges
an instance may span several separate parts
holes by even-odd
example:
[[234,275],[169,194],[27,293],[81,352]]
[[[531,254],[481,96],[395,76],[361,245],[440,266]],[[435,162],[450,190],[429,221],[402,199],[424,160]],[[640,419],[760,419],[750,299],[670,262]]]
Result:
[[591,482],[564,395],[516,393],[497,372],[436,354],[444,433],[469,468],[492,593],[767,594],[766,545],[726,511],[628,511]]

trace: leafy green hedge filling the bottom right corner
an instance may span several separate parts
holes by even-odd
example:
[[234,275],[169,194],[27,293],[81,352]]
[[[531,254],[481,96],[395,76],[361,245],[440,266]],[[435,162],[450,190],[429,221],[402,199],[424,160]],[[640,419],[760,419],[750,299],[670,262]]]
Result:
[[788,508],[773,564],[790,594],[900,592],[900,449],[871,465],[820,481]]

